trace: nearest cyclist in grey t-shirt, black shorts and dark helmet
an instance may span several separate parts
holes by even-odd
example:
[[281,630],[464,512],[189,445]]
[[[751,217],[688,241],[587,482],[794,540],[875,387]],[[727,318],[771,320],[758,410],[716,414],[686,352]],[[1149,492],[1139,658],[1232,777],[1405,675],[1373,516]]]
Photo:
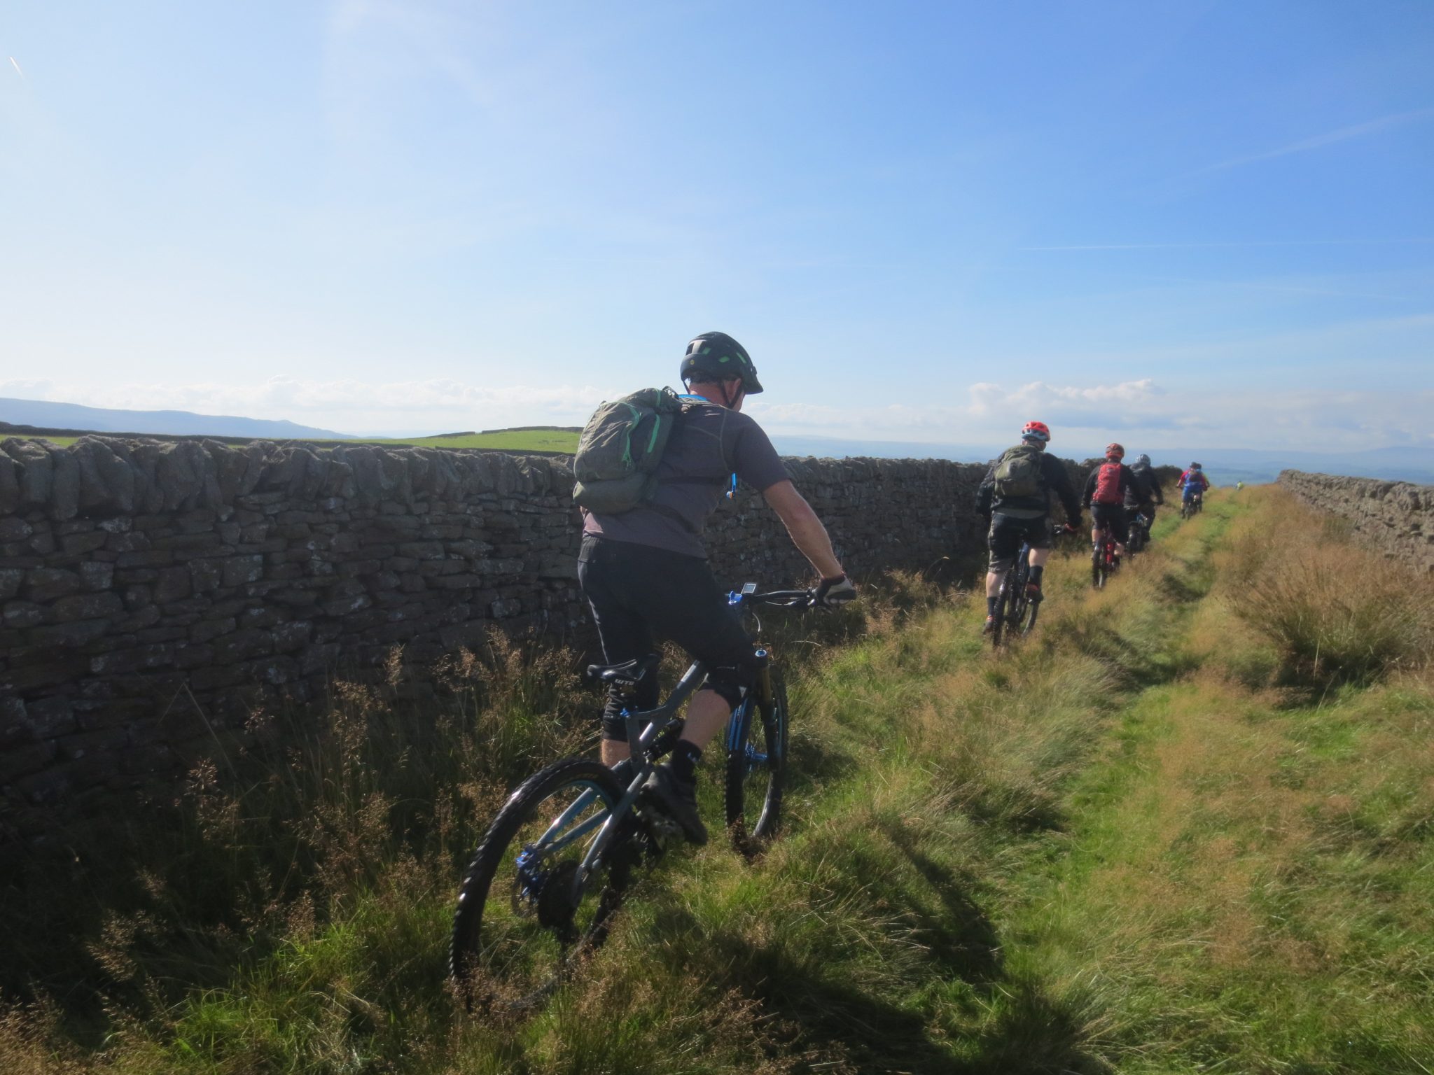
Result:
[[[726,333],[703,333],[687,344],[678,376],[684,410],[657,469],[651,499],[621,513],[585,512],[578,582],[608,664],[654,652],[654,631],[707,665],[707,679],[687,707],[671,758],[657,767],[650,790],[691,843],[706,843],[697,814],[697,763],[753,685],[751,639],[727,605],[703,545],[703,526],[736,473],[759,490],[812,562],[817,601],[832,608],[856,598],[832,550],[826,527],[792,484],[761,427],[741,414],[761,391],[747,351]],[[637,685],[634,705],[658,701],[657,677]],[[602,714],[602,763],[630,757],[624,701],[614,688]]]

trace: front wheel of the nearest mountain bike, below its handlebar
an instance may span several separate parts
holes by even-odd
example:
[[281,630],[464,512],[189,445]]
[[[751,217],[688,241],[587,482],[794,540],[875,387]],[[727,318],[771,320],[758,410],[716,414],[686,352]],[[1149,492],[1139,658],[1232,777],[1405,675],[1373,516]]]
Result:
[[770,701],[743,702],[727,725],[727,833],[744,856],[759,854],[782,824],[787,771],[787,685],[769,666]]

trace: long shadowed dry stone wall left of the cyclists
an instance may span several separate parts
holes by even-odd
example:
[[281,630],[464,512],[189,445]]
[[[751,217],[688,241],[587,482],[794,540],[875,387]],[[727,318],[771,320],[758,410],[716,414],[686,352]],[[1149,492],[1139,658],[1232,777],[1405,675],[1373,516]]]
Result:
[[[1071,464],[1074,467],[1074,464]],[[971,560],[984,466],[787,460],[853,573]],[[0,826],[182,771],[336,666],[414,665],[492,625],[587,622],[566,459],[268,441],[0,441]],[[718,578],[809,568],[749,490],[708,530]],[[235,732],[237,734],[237,732]]]

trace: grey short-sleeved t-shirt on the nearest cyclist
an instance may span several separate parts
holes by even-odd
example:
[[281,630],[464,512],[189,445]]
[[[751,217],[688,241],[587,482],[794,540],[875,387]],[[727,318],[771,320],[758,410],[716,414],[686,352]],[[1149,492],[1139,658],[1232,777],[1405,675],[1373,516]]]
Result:
[[651,503],[619,515],[589,512],[582,532],[707,559],[701,532],[734,472],[759,493],[787,480],[787,469],[761,426],[716,403],[695,403],[667,441]]

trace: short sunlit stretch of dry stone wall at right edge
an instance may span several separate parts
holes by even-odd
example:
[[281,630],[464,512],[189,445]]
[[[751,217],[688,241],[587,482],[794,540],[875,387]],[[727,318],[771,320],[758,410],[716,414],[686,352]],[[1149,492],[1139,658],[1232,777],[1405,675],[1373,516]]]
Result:
[[1347,519],[1369,549],[1434,572],[1434,486],[1283,470],[1279,484],[1311,507]]

